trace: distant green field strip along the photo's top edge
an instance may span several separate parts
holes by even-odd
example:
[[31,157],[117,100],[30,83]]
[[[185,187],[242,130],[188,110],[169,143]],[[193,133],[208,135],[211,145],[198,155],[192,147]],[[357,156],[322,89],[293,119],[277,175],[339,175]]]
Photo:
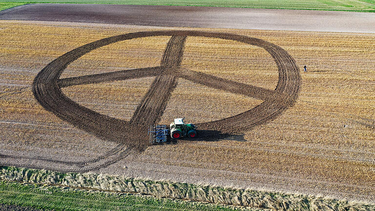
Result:
[[[5,0],[0,0],[5,2]],[[13,0],[21,3],[104,3],[135,5],[218,6],[375,12],[374,0]]]

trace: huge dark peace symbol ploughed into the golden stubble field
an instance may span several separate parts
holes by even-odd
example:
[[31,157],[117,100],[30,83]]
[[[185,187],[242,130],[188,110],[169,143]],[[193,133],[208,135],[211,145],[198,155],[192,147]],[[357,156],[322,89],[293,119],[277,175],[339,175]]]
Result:
[[[60,75],[68,64],[94,49],[114,42],[150,36],[171,37],[159,66],[60,79]],[[278,67],[279,81],[275,90],[234,82],[181,67],[185,41],[188,36],[220,38],[264,48],[274,58]],[[109,117],[78,105],[67,98],[61,90],[62,87],[71,85],[151,76],[156,78],[130,121]],[[33,93],[37,101],[46,110],[51,111],[62,120],[102,139],[136,146],[143,145],[143,142],[147,143],[145,141],[146,130],[149,125],[155,125],[160,121],[178,78],[263,100],[262,104],[238,115],[197,124],[200,129],[214,129],[221,132],[244,131],[274,119],[283,110],[293,105],[300,86],[299,70],[292,57],[284,49],[270,42],[228,33],[150,31],[105,38],[65,53],[49,63],[36,76],[33,83]]]

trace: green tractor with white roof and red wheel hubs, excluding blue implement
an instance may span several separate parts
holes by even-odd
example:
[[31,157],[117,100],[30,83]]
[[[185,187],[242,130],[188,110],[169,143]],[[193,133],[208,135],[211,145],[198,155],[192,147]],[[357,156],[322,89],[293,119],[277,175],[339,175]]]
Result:
[[170,137],[172,139],[180,139],[182,137],[195,138],[197,136],[197,129],[193,124],[185,124],[184,118],[174,119],[169,125]]

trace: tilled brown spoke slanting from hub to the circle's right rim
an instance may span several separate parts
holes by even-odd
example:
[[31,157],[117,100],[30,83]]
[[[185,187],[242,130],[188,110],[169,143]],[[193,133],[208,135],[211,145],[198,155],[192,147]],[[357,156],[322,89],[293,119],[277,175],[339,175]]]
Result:
[[191,71],[186,68],[182,69],[180,77],[211,88],[217,88],[233,94],[242,94],[259,100],[275,102],[282,105],[288,104],[289,101],[292,101],[292,99],[290,99],[290,97],[287,95],[279,93],[275,90],[230,81],[228,79],[219,78],[202,72]]

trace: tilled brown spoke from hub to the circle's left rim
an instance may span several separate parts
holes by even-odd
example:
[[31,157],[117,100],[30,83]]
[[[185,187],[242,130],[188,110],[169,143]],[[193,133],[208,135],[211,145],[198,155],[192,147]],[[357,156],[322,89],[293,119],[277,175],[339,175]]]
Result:
[[59,85],[60,88],[62,88],[62,87],[67,87],[67,86],[72,86],[72,85],[96,84],[96,83],[101,83],[101,82],[143,78],[143,77],[156,76],[162,70],[163,70],[163,67],[160,67],[160,66],[131,69],[131,70],[121,70],[121,71],[115,71],[115,72],[59,79],[57,84]]

